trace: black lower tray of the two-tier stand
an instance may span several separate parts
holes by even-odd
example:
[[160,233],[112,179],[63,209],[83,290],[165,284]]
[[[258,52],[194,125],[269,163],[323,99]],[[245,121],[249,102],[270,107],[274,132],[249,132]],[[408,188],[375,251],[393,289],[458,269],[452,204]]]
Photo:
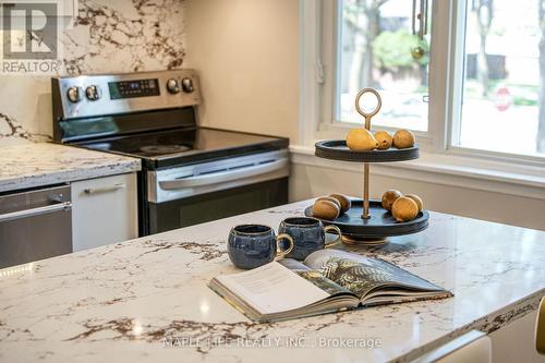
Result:
[[[370,219],[362,219],[363,201],[351,199],[352,207],[334,220],[320,219],[324,225],[335,225],[342,234],[351,238],[380,239],[391,235],[403,235],[423,231],[427,228],[429,214],[419,213],[415,219],[398,222],[391,214],[384,209],[380,201],[370,201]],[[313,206],[305,208],[305,216],[313,217]]]

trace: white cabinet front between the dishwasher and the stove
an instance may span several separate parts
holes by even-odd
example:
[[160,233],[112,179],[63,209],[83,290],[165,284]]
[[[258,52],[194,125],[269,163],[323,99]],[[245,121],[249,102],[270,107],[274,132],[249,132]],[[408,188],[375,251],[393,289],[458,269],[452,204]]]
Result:
[[136,173],[71,184],[74,252],[138,235]]

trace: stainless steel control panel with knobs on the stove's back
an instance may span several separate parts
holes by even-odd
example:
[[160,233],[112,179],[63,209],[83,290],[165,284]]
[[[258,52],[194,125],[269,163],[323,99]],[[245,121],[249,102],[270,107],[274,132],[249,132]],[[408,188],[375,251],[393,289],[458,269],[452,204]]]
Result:
[[56,120],[196,106],[194,70],[97,74],[51,78]]

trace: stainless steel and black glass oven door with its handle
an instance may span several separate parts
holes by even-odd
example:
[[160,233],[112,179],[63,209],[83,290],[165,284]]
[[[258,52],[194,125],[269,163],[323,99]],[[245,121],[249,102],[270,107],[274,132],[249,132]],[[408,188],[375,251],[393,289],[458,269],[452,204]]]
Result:
[[147,228],[157,233],[288,203],[289,153],[148,171]]

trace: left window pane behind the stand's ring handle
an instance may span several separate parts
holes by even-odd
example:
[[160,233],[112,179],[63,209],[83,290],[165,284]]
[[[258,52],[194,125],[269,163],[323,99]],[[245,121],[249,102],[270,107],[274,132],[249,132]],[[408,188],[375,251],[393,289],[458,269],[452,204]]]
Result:
[[361,123],[354,97],[375,87],[383,95],[376,122],[427,131],[429,36],[413,34],[412,1],[341,0],[339,7],[338,120]]

